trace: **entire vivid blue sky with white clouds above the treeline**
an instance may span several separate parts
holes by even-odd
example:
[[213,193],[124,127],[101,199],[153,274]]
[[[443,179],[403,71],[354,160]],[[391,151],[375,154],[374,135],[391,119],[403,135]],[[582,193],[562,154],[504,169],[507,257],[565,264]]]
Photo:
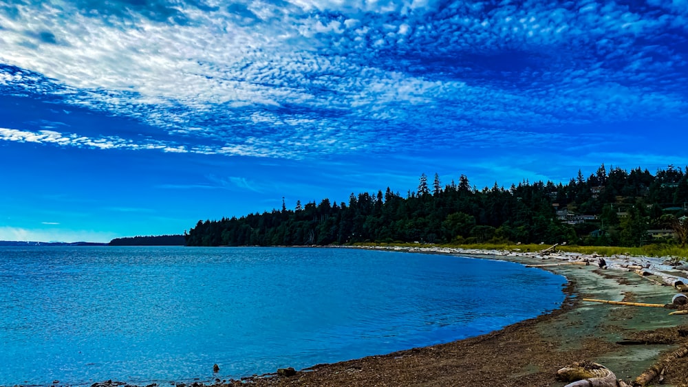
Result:
[[688,1],[5,0],[0,240],[688,165]]

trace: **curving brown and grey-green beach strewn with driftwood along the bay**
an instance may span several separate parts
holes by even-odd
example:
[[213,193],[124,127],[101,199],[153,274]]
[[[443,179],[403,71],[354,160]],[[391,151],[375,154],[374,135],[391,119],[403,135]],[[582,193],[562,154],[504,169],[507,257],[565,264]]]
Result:
[[[535,318],[498,331],[446,344],[418,347],[331,364],[316,364],[290,376],[269,373],[241,379],[204,379],[186,384],[160,382],[158,386],[565,386],[556,371],[579,360],[603,364],[627,383],[656,363],[662,353],[674,351],[688,339],[678,338],[676,327],[688,316],[668,316],[667,309],[619,307],[583,302],[601,298],[632,302],[669,303],[678,293],[669,286],[645,280],[622,265],[660,265],[658,258],[604,257],[608,269],[596,266],[596,256],[563,253],[461,250],[449,247],[333,247],[390,250],[420,254],[447,254],[510,261],[559,274],[568,280],[561,305]],[[651,261],[648,263],[648,261]],[[590,265],[571,265],[592,261]],[[657,273],[659,274],[659,273]],[[676,278],[680,273],[671,273]],[[688,282],[688,280],[687,280]],[[497,284],[508,286],[508,284]],[[498,309],[499,305],[495,305]],[[686,327],[688,328],[688,327]],[[625,338],[659,332],[673,341],[645,345],[616,344]],[[669,333],[667,333],[669,332]],[[645,336],[643,336],[645,335]],[[649,336],[648,336],[649,337]],[[683,341],[681,341],[683,340]],[[649,344],[647,344],[649,343]],[[688,361],[667,367],[665,386],[688,386]],[[57,386],[57,385],[53,385]],[[122,382],[94,383],[94,387],[131,386]],[[153,385],[149,385],[153,386]]]

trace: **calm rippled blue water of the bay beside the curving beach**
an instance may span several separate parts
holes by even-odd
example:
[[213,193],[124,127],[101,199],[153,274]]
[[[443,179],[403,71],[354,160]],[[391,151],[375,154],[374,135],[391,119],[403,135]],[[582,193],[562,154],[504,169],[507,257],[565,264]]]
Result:
[[565,282],[352,249],[0,247],[0,385],[225,379],[389,353],[556,309]]

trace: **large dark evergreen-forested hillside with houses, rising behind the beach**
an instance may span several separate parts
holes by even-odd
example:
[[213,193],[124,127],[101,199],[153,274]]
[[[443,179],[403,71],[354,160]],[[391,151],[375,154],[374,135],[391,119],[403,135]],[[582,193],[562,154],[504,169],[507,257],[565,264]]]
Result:
[[[522,181],[510,188],[478,190],[461,175],[442,185],[436,174],[420,177],[405,197],[384,192],[353,193],[346,202],[323,199],[294,210],[199,221],[189,246],[330,245],[355,242],[569,243],[638,246],[672,243],[688,202],[688,167],[630,171],[602,165],[568,184]],[[672,235],[673,234],[673,235]],[[681,241],[682,239],[682,241]]]

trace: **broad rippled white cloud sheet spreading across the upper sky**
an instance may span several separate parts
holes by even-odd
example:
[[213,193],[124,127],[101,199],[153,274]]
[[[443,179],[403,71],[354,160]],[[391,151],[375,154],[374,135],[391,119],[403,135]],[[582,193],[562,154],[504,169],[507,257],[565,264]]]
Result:
[[0,63],[56,82],[0,68],[0,85],[142,120],[160,130],[153,137],[175,141],[52,126],[0,139],[303,158],[385,151],[429,133],[434,146],[451,146],[495,131],[685,117],[682,82],[670,81],[685,78],[685,59],[658,40],[680,7],[654,1],[674,14],[613,2],[485,12],[480,3],[291,0],[251,2],[243,13],[180,7],[189,23],[169,24],[22,3],[16,16],[0,12],[10,47]]

